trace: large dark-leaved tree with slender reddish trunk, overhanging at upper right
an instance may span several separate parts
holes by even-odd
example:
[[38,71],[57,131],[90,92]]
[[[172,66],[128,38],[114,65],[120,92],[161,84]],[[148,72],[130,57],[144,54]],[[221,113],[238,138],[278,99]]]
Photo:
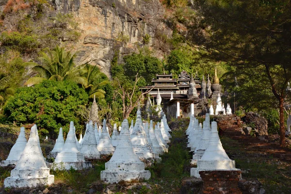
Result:
[[183,20],[176,19],[188,30],[178,29],[180,34],[216,60],[254,72],[264,69],[260,76],[269,85],[260,84],[258,90],[268,87],[276,98],[280,146],[284,147],[284,99],[291,80],[291,2],[196,0],[194,10]]

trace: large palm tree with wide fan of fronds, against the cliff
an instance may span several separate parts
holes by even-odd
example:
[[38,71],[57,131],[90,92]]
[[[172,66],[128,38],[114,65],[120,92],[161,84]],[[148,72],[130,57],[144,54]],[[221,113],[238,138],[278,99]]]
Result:
[[30,78],[25,84],[32,86],[43,80],[65,81],[70,80],[78,84],[85,84],[86,79],[81,75],[84,73],[84,65],[74,67],[76,54],[65,51],[57,46],[53,50],[42,52],[39,57],[40,64],[27,62],[25,65],[32,66],[32,70],[37,72],[37,76]]

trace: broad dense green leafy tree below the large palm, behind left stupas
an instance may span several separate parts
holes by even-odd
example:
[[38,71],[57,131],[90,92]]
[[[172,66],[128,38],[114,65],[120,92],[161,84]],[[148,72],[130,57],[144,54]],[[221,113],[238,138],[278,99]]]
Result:
[[4,113],[11,122],[17,124],[35,123],[40,131],[47,130],[50,137],[64,132],[74,121],[76,131],[82,130],[83,120],[77,115],[80,105],[88,102],[88,95],[76,83],[69,81],[43,81],[34,87],[16,90]]

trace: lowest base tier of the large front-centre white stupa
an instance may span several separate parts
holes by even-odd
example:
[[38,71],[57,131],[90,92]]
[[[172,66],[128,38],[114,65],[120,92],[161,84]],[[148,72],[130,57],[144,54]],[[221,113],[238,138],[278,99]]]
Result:
[[149,179],[150,172],[148,170],[135,172],[112,172],[108,170],[101,171],[101,180],[107,183],[118,183],[120,181],[131,181]]

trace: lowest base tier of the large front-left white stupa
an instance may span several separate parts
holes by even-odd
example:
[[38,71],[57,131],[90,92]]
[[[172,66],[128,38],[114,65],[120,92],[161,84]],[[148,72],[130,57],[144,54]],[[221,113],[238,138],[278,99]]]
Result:
[[48,177],[39,178],[17,178],[8,177],[4,180],[4,187],[39,187],[44,185],[51,185],[54,183],[54,176],[49,175]]

